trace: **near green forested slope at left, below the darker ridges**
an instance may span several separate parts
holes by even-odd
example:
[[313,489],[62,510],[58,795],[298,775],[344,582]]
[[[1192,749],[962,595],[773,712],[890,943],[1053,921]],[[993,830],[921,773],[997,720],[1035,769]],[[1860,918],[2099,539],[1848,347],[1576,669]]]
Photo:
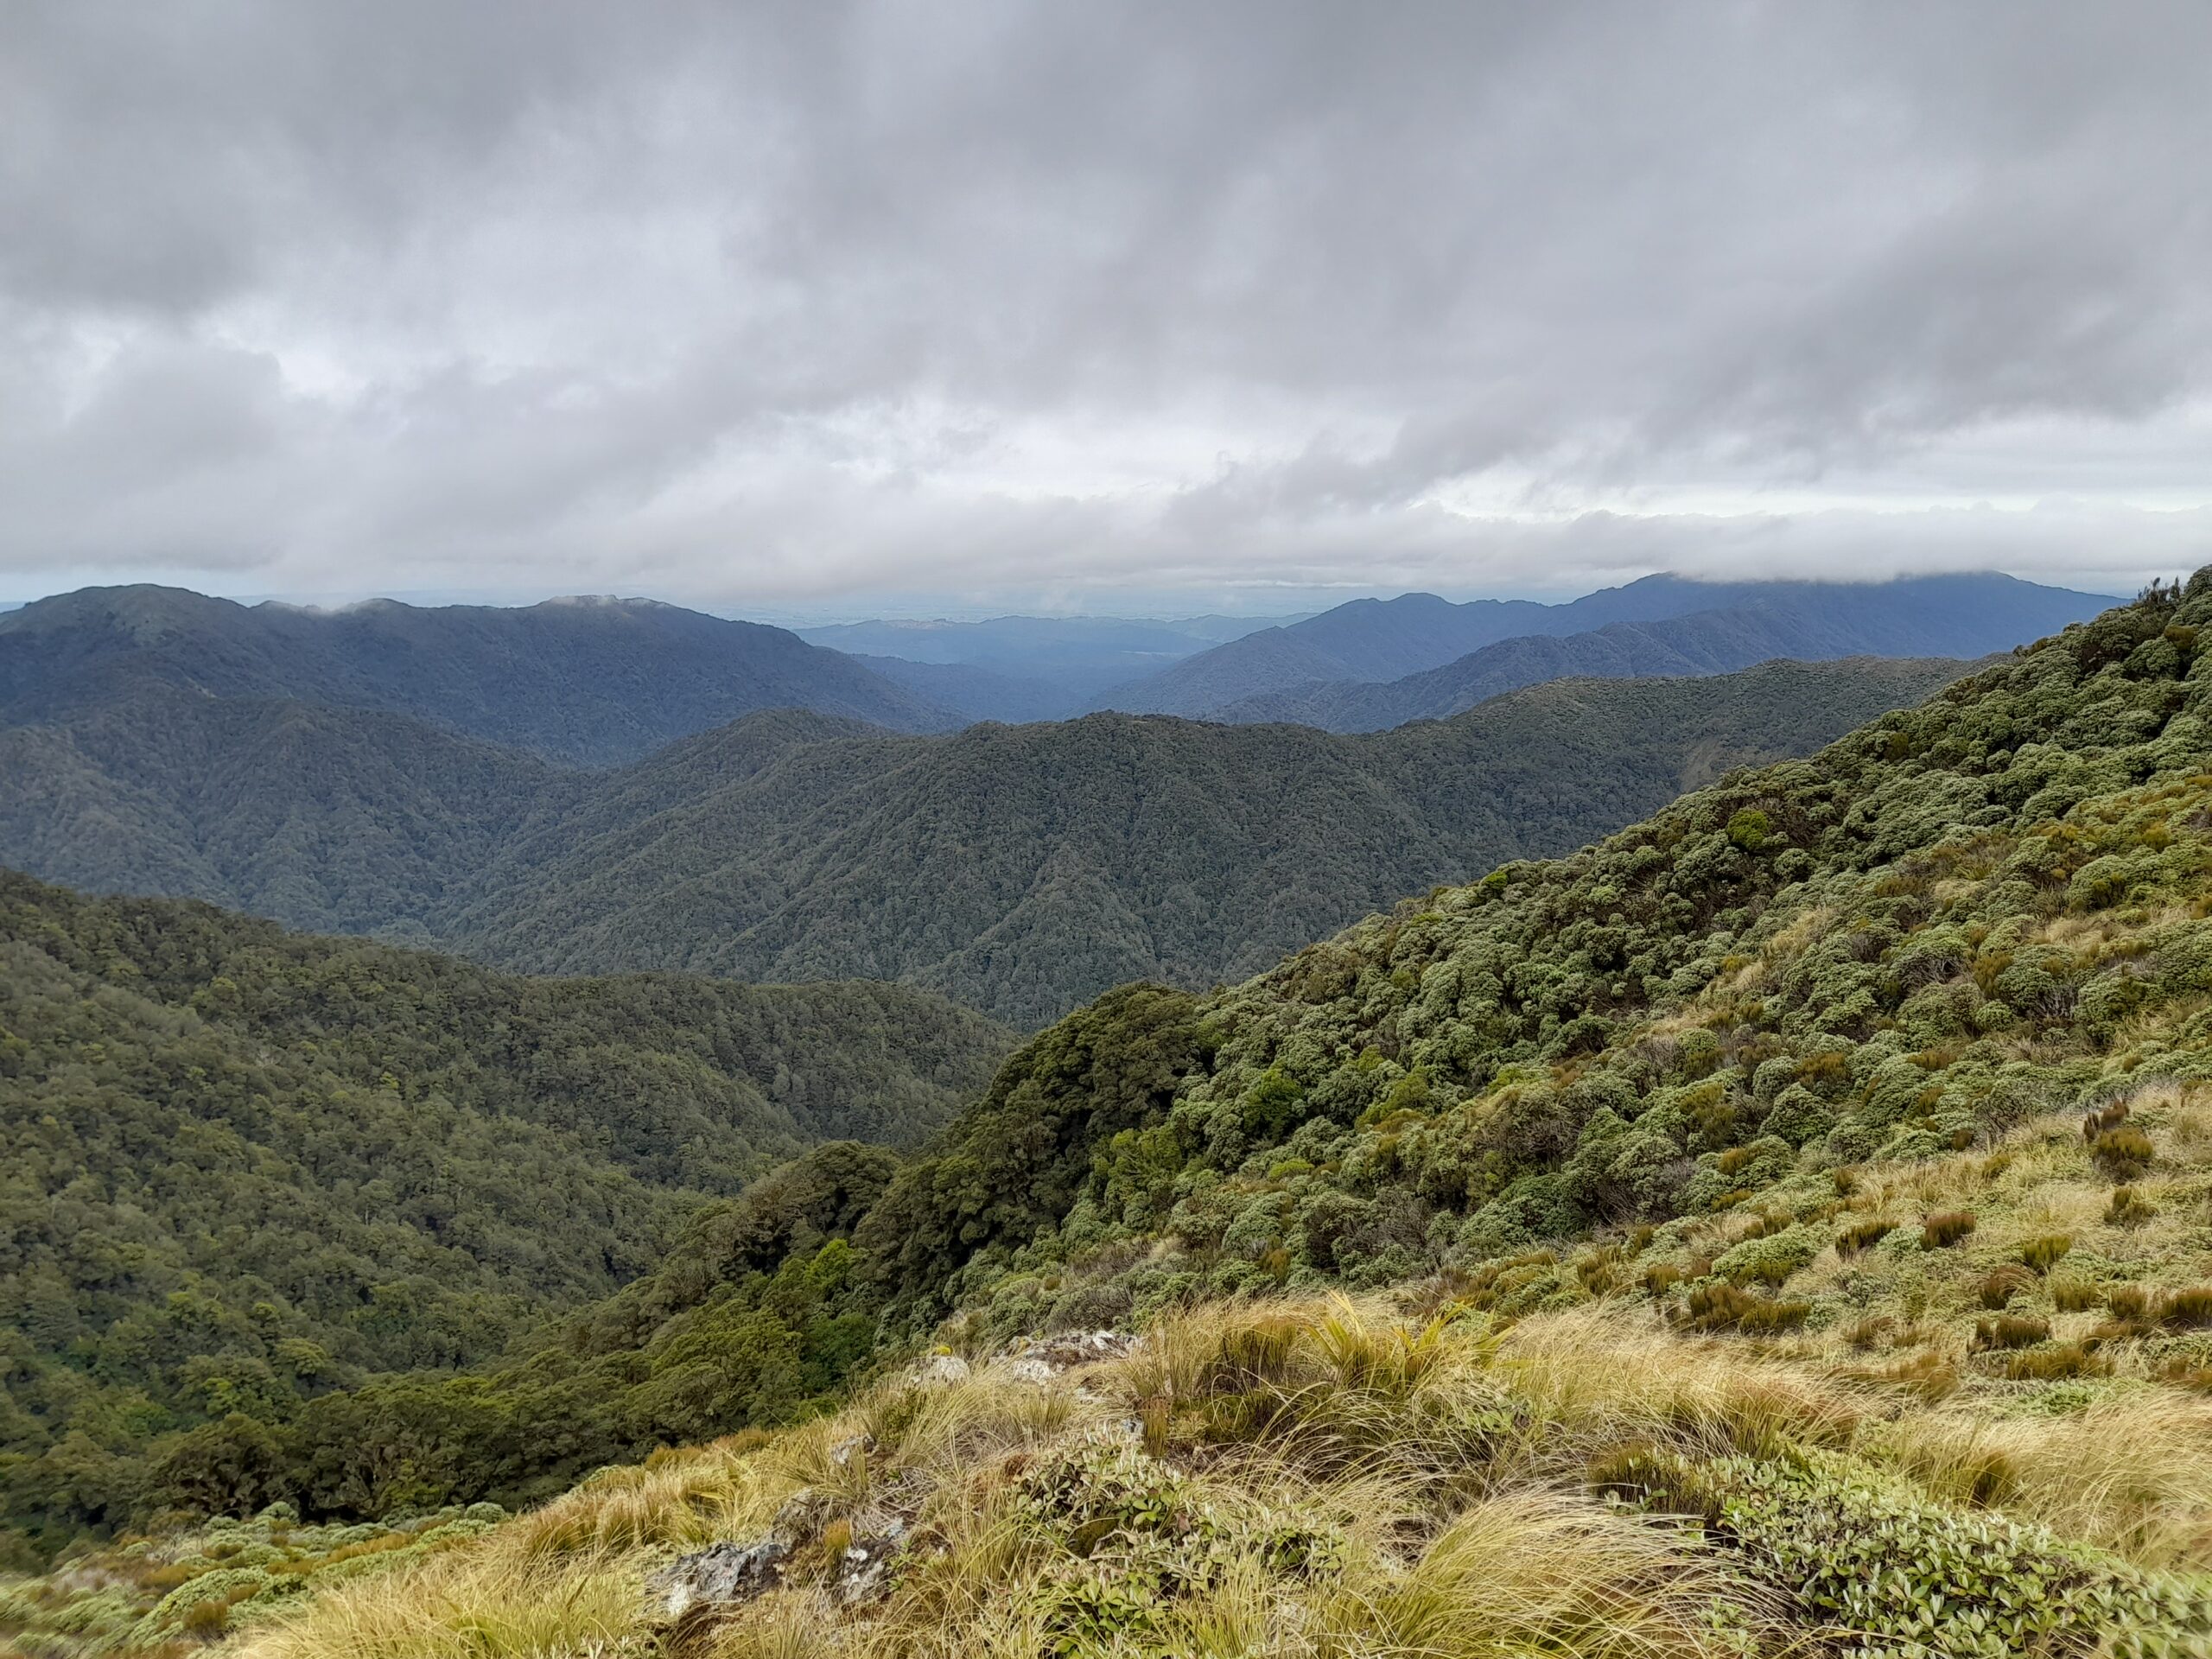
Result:
[[495,1354],[776,1159],[911,1141],[1004,1053],[885,984],[520,980],[0,874],[0,1498]]

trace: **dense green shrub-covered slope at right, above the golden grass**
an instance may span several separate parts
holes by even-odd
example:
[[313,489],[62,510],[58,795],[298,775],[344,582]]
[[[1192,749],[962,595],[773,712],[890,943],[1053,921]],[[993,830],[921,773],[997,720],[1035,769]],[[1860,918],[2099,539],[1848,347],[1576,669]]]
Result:
[[[1144,1265],[1166,1281],[1387,1281],[1971,1144],[2137,1073],[2212,1075],[2205,622],[2212,571],[1807,761],[1314,945],[1190,1006],[1155,1091],[1172,1113],[1119,1104],[1011,1164],[971,1115],[962,1146],[995,1164],[960,1177],[973,1197],[909,1170],[911,1203],[863,1237],[931,1312],[1031,1248],[1026,1221],[978,1225],[1009,1192],[1082,1194],[1062,1250],[1168,1228],[1186,1263]],[[1146,1290],[1113,1276],[1097,1312]]]

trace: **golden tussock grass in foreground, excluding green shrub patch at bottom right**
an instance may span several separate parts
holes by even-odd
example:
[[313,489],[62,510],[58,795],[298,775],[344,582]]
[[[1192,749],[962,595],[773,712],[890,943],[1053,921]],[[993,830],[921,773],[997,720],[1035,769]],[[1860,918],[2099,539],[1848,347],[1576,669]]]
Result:
[[[2203,1097],[2139,1091],[2124,1126],[2181,1146],[2183,1121],[2212,1124]],[[1825,1188],[1794,1214],[1863,1225],[1823,1210]],[[1860,1166],[1843,1192],[1858,1217],[1924,1217],[1953,1237],[1922,1250],[1911,1221],[1905,1237],[1867,1228],[1863,1248],[1820,1250],[1774,1298],[1730,1287],[1807,1310],[1803,1329],[1692,1327],[1690,1292],[1725,1283],[1705,1256],[1743,1234],[1741,1214],[1568,1254],[1557,1279],[1577,1305],[1520,1318],[1471,1303],[1555,1256],[1502,1256],[1398,1298],[1170,1310],[1133,1352],[1048,1383],[991,1363],[949,1383],[894,1378],[816,1422],[602,1471],[230,1644],[241,1659],[582,1659],[650,1641],[668,1659],[1847,1646],[1710,1535],[1590,1495],[1593,1471],[1639,1458],[1728,1480],[1860,1471],[1962,1526],[2046,1526],[2110,1553],[2097,1559],[2212,1575],[2203,1181],[2170,1161],[2141,1190],[2159,1194],[2154,1214],[2106,1219],[2112,1186],[2068,1115],[2015,1128],[1995,1155]],[[1761,1230],[1794,1225],[1770,1208]],[[1037,1471],[1084,1447],[1150,1471],[1159,1493],[1130,1513],[1168,1520],[1099,1533],[1040,1513]],[[911,1540],[896,1588],[838,1606],[827,1544],[880,1537],[891,1517]],[[772,1526],[796,1542],[785,1588],[655,1632],[646,1573]],[[1327,1571],[1285,1564],[1270,1544],[1285,1535],[1334,1540]],[[1192,1540],[1208,1540],[1197,1568]],[[1157,1590],[1141,1608],[1121,1597],[1139,1582]]]

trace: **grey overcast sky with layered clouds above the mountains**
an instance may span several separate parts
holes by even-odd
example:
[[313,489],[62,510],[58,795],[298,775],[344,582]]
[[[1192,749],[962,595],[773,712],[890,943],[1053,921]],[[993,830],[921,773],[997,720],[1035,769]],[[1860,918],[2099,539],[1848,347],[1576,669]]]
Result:
[[2212,562],[2212,4],[0,9],[0,599]]

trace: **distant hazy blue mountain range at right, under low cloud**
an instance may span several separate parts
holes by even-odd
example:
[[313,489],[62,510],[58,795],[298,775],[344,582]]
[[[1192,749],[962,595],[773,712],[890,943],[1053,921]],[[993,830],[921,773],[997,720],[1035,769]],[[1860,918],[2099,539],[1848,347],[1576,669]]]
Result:
[[[1559,675],[1721,672],[1770,657],[1984,657],[2108,604],[1993,573],[1871,584],[1650,575],[1568,604],[1451,604],[1407,593],[1245,635],[1104,701],[1133,712],[1365,732],[1440,719]],[[1573,641],[1544,644],[1566,637]],[[1387,681],[1407,684],[1360,690]]]

